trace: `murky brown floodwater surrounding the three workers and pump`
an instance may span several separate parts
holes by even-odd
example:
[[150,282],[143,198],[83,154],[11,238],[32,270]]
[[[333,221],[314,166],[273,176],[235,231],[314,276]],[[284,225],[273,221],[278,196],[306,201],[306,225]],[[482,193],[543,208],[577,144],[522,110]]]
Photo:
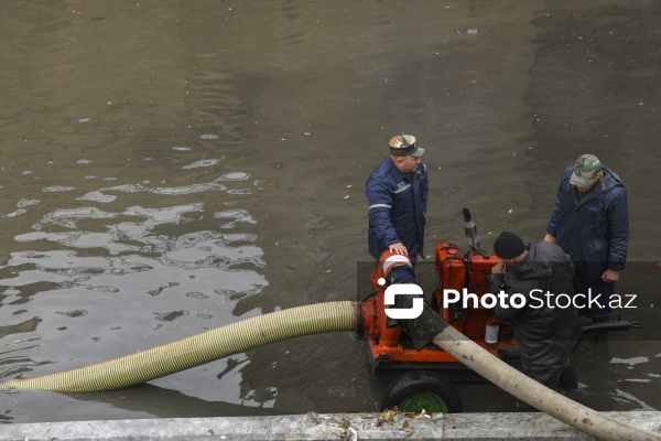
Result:
[[[617,311],[584,341],[597,410],[660,410],[657,1],[61,1],[0,13],[0,380],[369,294],[365,182],[426,152],[425,255],[469,207],[542,240],[563,170],[628,190]],[[423,286],[432,265],[420,266]],[[107,392],[0,391],[0,422],[371,411],[351,333],[301,337]],[[466,411],[517,411],[488,384]]]

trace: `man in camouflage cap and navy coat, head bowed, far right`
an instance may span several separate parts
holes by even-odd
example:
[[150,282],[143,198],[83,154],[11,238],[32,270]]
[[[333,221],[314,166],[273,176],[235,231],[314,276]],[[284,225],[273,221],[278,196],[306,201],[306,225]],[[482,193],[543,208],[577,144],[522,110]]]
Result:
[[[586,303],[581,315],[610,314],[610,298],[629,246],[627,190],[594,154],[583,154],[564,171],[544,240],[572,257],[574,290]],[[587,303],[588,299],[596,299]]]

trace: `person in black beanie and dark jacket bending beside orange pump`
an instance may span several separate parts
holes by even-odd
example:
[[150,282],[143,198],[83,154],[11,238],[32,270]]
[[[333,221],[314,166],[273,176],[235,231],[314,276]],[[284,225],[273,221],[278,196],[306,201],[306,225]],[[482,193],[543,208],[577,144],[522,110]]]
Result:
[[[565,368],[573,372],[570,354],[581,337],[578,312],[572,304],[572,260],[548,241],[528,250],[509,232],[498,236],[494,252],[501,262],[488,277],[489,290],[495,295],[502,290],[507,299],[497,302],[494,312],[498,320],[513,322],[523,372],[550,388],[576,387],[575,373],[573,384],[561,383]],[[514,294],[523,295],[525,302],[514,302]]]

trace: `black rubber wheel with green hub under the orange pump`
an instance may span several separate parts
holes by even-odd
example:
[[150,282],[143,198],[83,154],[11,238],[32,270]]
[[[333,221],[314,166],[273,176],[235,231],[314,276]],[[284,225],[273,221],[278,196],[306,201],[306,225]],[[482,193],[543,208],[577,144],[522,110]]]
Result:
[[381,405],[403,412],[459,413],[464,411],[457,389],[441,375],[429,370],[407,373],[391,383]]

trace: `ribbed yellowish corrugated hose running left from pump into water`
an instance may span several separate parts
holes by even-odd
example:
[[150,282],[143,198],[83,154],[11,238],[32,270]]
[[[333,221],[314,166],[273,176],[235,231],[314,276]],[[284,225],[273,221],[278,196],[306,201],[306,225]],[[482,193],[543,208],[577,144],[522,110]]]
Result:
[[119,389],[275,342],[326,332],[356,331],[358,308],[356,301],[291,308],[107,362],[0,383],[0,387],[57,391]]

